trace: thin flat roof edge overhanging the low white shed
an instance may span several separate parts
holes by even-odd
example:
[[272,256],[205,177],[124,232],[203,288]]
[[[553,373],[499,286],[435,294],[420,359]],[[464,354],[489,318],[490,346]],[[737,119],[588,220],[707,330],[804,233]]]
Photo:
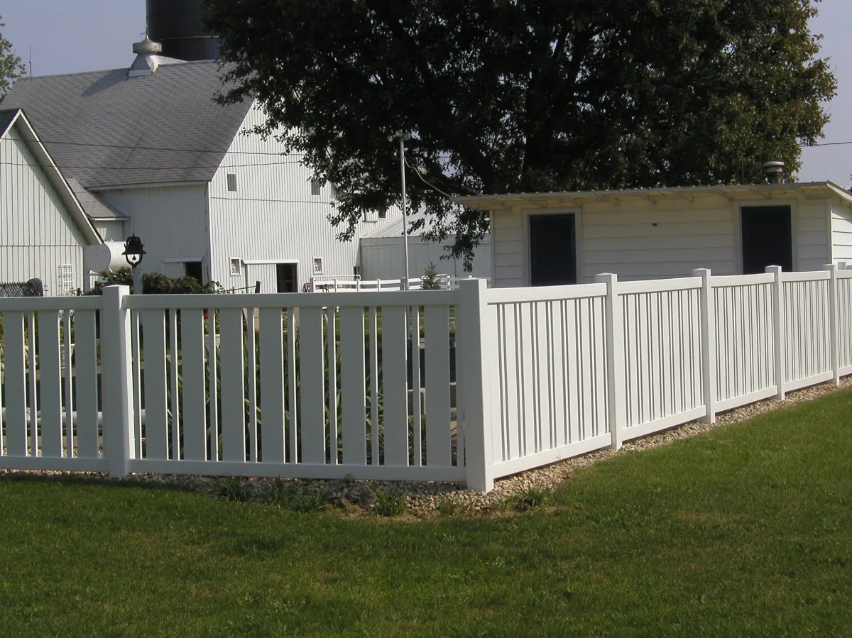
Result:
[[472,195],[453,198],[476,210],[511,210],[521,208],[580,208],[593,202],[620,204],[629,200],[656,203],[682,199],[693,203],[701,197],[723,197],[731,201],[763,201],[802,195],[806,198],[839,198],[852,208],[852,193],[831,181],[809,181],[791,184],[751,184],[743,186],[637,188],[623,191],[581,191],[576,193],[506,193]]

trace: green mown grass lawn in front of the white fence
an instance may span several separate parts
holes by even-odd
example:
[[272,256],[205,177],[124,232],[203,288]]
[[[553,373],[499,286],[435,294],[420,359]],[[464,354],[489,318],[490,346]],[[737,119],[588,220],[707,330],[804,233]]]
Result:
[[852,392],[486,519],[0,480],[0,635],[849,635]]

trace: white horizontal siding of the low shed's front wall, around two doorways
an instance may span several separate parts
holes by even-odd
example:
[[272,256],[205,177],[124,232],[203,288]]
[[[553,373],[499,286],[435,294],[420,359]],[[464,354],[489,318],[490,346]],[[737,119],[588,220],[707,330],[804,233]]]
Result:
[[[574,213],[579,237],[578,279],[593,281],[598,273],[617,273],[619,279],[659,279],[687,275],[694,268],[716,274],[742,271],[740,207],[791,205],[793,256],[797,270],[818,270],[831,258],[827,200],[749,198],[722,195],[688,198],[609,197],[582,209],[494,210],[492,246],[495,285],[529,285],[527,226],[530,215]],[[832,231],[846,233],[834,240],[835,256],[852,261],[852,213],[838,208]],[[845,250],[845,252],[844,252]]]

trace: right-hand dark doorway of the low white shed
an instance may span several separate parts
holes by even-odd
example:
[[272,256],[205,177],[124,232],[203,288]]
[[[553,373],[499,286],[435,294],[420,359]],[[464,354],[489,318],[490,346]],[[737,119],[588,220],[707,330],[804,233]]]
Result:
[[792,221],[789,206],[743,206],[743,274],[766,271],[767,266],[793,269]]

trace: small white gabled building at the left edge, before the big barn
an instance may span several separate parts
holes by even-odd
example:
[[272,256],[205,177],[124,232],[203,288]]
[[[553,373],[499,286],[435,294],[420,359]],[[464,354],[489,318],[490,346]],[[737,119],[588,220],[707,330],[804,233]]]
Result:
[[41,279],[44,294],[86,287],[83,250],[101,237],[20,109],[0,111],[0,283]]

